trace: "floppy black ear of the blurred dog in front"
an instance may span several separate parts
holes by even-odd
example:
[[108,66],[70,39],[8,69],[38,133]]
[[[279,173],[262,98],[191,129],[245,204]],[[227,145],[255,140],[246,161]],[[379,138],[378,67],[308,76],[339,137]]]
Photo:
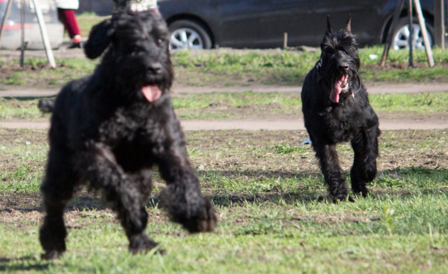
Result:
[[84,45],[84,53],[90,59],[95,59],[109,46],[114,26],[111,19],[107,19],[92,27],[89,39]]

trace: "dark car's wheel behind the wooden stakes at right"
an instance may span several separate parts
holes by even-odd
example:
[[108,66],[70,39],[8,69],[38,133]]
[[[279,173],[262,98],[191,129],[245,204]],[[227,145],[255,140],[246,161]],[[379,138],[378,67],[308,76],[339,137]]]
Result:
[[[430,22],[425,21],[426,30],[428,31],[429,44],[432,46],[433,41],[433,26]],[[397,27],[392,36],[393,49],[409,48],[408,38],[409,38],[409,18],[404,17],[398,20]],[[420,31],[420,25],[418,19],[413,19],[413,48],[424,49],[423,36]]]

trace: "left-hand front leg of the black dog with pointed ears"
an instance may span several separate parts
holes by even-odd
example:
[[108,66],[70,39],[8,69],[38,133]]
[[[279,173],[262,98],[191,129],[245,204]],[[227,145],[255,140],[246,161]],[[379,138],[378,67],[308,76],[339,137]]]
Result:
[[[339,165],[336,147],[334,144],[322,144],[313,141],[316,156],[319,158],[320,168],[325,184],[328,187],[329,198],[344,200],[348,196],[348,188]],[[348,197],[349,200],[352,200]]]

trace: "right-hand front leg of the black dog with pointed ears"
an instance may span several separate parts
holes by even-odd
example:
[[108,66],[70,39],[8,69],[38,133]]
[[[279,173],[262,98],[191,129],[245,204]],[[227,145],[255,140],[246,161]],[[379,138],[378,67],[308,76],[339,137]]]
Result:
[[354,193],[367,196],[366,183],[376,176],[376,157],[378,156],[378,126],[358,132],[351,139],[354,151],[353,166],[350,170],[351,189]]

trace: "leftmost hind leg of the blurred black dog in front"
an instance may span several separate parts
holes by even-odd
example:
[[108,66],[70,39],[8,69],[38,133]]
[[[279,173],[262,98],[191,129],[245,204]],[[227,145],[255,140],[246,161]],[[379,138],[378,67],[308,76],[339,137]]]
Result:
[[64,225],[64,209],[77,190],[78,179],[71,167],[70,152],[52,147],[45,180],[41,186],[46,216],[39,239],[45,253],[44,259],[58,258],[65,250],[67,230]]

